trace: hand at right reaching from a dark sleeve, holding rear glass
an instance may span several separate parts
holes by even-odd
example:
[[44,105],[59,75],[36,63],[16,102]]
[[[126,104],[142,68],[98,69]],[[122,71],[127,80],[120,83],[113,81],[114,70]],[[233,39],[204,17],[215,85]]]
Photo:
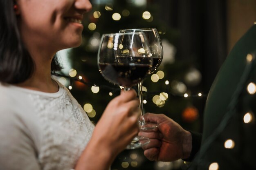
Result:
[[144,155],[149,160],[174,161],[189,157],[192,149],[190,132],[163,114],[147,113],[144,118],[146,122],[157,124],[156,130],[139,132],[139,136],[150,139],[150,143],[143,147]]

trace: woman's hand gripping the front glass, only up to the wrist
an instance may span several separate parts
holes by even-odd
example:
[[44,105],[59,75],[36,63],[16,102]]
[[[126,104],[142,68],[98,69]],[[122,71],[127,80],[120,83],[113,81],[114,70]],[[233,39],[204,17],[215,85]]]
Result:
[[137,93],[134,90],[121,91],[121,95],[106,107],[92,139],[97,135],[95,138],[102,140],[99,142],[104,142],[105,147],[112,148],[113,154],[117,155],[137,135],[139,114]]

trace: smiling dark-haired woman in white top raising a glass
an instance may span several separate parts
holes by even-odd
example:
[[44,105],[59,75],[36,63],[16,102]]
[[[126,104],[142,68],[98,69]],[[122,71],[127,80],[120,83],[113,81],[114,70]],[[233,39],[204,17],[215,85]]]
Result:
[[108,170],[137,134],[135,91],[113,99],[94,129],[51,76],[61,68],[55,53],[81,44],[91,8],[89,0],[1,0],[1,170]]

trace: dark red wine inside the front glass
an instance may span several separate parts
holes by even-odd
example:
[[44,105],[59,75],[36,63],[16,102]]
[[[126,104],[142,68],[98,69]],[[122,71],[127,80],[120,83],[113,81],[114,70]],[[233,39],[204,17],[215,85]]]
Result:
[[[143,57],[132,57],[135,63],[99,63],[100,72],[105,79],[113,84],[131,87],[138,84],[149,73],[150,64],[140,64]],[[150,61],[150,60],[148,60]]]

